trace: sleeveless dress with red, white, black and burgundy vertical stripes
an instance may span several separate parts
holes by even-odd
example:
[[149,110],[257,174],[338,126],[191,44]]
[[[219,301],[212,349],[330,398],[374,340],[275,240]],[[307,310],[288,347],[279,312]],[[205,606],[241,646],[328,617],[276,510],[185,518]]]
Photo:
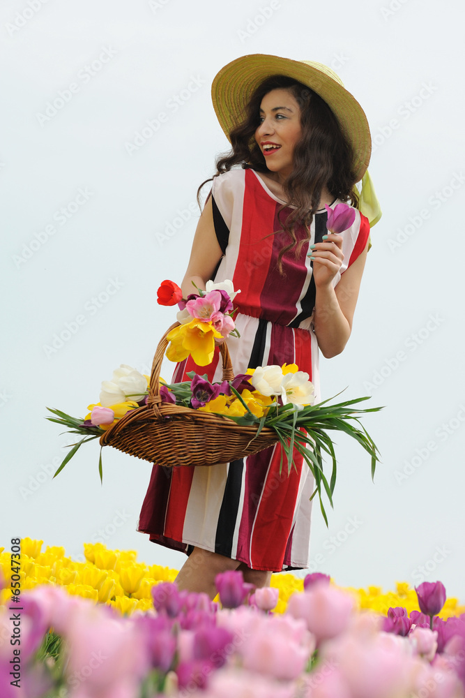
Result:
[[[319,396],[319,349],[312,332],[315,286],[309,245],[326,234],[326,209],[312,222],[312,239],[298,258],[284,255],[281,276],[276,268],[289,237],[280,230],[282,205],[254,170],[231,170],[213,179],[213,221],[223,251],[215,281],[231,279],[240,289],[234,304],[240,339],[228,339],[235,373],[270,364],[297,364],[310,374]],[[332,207],[338,203],[333,202]],[[289,215],[291,207],[282,216]],[[369,235],[367,218],[356,211],[352,227],[342,234],[344,262],[334,285],[363,251]],[[305,237],[303,228],[297,239]],[[208,366],[186,359],[176,366],[174,381],[188,371],[221,380],[218,350]],[[188,448],[188,445],[186,445]],[[189,553],[193,546],[241,561],[254,570],[298,570],[309,566],[312,473],[297,460],[297,469],[280,475],[278,445],[258,454],[216,466],[153,466],[137,530],[150,540]]]

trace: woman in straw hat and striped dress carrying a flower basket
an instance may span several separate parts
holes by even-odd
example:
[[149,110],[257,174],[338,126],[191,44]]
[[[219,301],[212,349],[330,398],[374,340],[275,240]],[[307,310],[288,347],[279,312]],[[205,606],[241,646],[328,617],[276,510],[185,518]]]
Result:
[[[232,61],[212,95],[232,149],[217,161],[184,297],[192,282],[231,279],[240,290],[241,338],[228,339],[235,373],[296,363],[319,401],[318,352],[333,357],[349,339],[369,237],[358,210],[349,230],[328,232],[325,205],[358,205],[371,150],[365,114],[330,68],[274,56]],[[209,366],[178,364],[174,381],[192,369],[220,380],[218,349]],[[153,466],[138,530],[189,554],[179,588],[213,598],[219,572],[266,586],[272,572],[308,567],[314,481],[296,460],[280,475],[275,446],[213,467]]]

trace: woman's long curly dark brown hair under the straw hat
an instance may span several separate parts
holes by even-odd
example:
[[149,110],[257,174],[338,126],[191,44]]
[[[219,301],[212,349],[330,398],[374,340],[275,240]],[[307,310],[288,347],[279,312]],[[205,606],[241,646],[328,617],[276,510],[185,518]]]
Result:
[[[215,163],[217,171],[213,177],[201,183],[197,190],[197,201],[200,205],[200,191],[204,184],[229,172],[234,165],[241,165],[245,170],[251,168],[257,172],[269,172],[255,140],[255,131],[260,125],[261,101],[273,89],[287,89],[294,96],[300,107],[302,128],[300,140],[294,147],[294,170],[283,184],[288,203],[283,204],[277,214],[281,230],[289,236],[289,244],[281,249],[277,260],[282,272],[282,256],[291,249],[295,249],[297,256],[306,240],[310,239],[310,225],[324,186],[334,198],[349,200],[353,206],[358,206],[355,187],[358,179],[353,167],[351,144],[342,133],[330,107],[316,92],[286,75],[272,75],[261,82],[245,107],[245,119],[229,133],[231,150],[218,156]],[[292,209],[286,221],[282,221],[280,214],[289,205],[296,208]],[[300,242],[297,242],[295,233],[298,225],[303,225],[307,232],[307,237],[301,238]]]

